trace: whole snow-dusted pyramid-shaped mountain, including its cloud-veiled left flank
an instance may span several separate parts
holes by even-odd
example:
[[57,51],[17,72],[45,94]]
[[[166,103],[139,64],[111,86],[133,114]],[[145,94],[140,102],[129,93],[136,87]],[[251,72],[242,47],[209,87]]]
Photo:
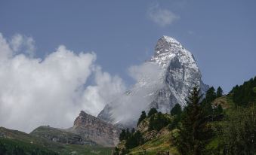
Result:
[[134,87],[107,104],[98,118],[109,123],[134,126],[141,111],[154,107],[169,113],[175,104],[186,104],[189,90],[195,85],[200,87],[202,93],[208,90],[192,53],[174,38],[160,38],[154,56],[143,67],[145,74],[140,76]]

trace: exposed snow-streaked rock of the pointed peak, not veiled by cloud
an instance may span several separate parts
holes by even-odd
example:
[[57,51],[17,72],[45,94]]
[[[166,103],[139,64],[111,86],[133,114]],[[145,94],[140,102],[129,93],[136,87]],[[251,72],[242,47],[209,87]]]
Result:
[[169,112],[174,104],[184,106],[193,86],[198,85],[205,93],[208,86],[203,84],[202,75],[192,53],[178,41],[168,36],[159,39],[155,56],[150,59],[165,70],[165,84],[150,105],[162,112]]

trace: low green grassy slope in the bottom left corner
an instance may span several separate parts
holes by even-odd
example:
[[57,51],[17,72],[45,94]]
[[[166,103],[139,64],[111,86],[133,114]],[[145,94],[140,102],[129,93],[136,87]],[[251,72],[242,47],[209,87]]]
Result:
[[[5,129],[0,127],[0,144],[6,150],[6,154],[15,154],[15,149],[19,150],[17,154],[102,154],[110,155],[113,148],[90,146],[80,144],[62,144],[49,141],[34,135],[26,134],[17,130]],[[1,149],[0,149],[1,151]],[[1,153],[0,154],[4,154]]]

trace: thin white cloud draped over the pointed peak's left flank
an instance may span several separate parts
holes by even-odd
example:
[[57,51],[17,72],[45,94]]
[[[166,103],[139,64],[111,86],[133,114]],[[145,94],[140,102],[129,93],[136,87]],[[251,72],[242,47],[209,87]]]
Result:
[[131,66],[128,71],[136,84],[110,105],[114,107],[111,112],[115,122],[132,124],[140,117],[141,111],[149,108],[158,93],[157,90],[163,87],[164,70],[156,63],[144,62]]

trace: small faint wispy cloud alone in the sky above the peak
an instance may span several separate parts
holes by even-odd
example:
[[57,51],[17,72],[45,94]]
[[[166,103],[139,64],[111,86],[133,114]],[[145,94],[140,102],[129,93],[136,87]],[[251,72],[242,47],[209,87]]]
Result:
[[150,6],[147,11],[147,16],[154,23],[162,27],[171,25],[175,20],[179,19],[179,17],[173,12],[165,8],[160,8],[159,4]]

